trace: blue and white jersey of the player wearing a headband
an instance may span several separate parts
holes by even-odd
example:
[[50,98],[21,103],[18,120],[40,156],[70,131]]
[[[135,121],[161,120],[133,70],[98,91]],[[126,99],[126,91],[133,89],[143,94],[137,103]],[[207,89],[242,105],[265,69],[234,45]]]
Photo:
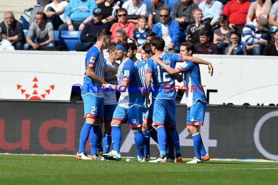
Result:
[[131,59],[126,58],[119,65],[118,84],[122,81],[129,82],[129,87],[125,92],[120,92],[118,105],[129,109],[133,106],[143,106],[143,99],[140,92],[141,82],[137,68]]

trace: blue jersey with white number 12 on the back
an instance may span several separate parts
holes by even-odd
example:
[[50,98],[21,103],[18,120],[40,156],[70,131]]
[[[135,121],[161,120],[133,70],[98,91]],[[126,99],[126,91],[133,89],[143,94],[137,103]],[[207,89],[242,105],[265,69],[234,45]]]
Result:
[[[182,56],[175,53],[163,53],[160,60],[168,66],[175,68],[177,62],[182,61]],[[175,99],[175,76],[169,74],[151,58],[146,61],[146,73],[152,73],[153,92],[152,97],[156,99]]]

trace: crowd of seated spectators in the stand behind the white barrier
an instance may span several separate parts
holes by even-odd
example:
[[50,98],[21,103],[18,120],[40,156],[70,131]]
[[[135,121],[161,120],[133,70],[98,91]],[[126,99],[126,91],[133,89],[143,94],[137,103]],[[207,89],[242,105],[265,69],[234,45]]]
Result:
[[[165,41],[165,52],[180,43],[197,54],[278,56],[278,0],[38,0],[23,28],[12,11],[0,22],[0,50],[55,47],[54,30],[80,31],[76,51],[96,43],[100,29],[112,40],[138,46],[147,36]],[[25,38],[23,29],[28,29]]]

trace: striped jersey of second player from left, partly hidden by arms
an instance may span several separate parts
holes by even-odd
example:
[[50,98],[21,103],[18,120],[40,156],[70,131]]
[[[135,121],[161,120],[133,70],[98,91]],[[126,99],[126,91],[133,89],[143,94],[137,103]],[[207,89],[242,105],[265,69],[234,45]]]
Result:
[[[104,62],[105,62],[105,68],[114,68],[114,69],[119,68],[119,64],[117,62],[115,62],[114,65],[106,59],[104,60]],[[105,76],[113,76],[115,74],[116,73],[109,71],[105,74]],[[117,85],[118,81],[117,81],[117,79],[115,79],[115,80],[112,80],[107,83],[112,84],[112,85]],[[105,91],[104,92],[104,105],[114,105],[114,104],[117,104],[116,92],[115,91]]]

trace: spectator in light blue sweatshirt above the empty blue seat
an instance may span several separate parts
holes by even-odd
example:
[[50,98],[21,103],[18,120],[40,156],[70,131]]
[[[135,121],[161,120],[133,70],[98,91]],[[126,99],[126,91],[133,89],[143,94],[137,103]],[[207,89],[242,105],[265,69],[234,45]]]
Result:
[[85,24],[93,20],[93,10],[97,8],[95,0],[71,0],[64,12],[65,23],[58,30],[82,31]]

